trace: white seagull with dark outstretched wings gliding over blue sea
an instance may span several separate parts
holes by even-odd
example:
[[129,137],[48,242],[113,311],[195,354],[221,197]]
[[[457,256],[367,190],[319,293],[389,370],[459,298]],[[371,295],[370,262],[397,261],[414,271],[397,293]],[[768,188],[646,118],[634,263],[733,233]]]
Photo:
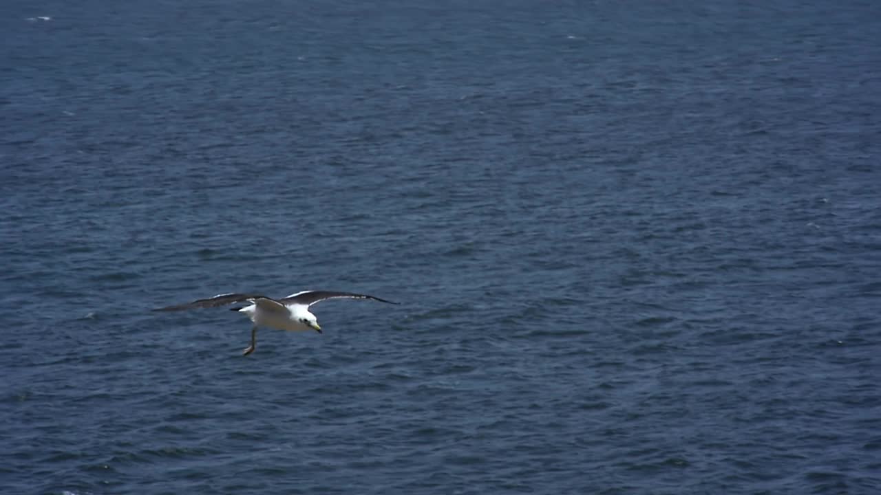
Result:
[[301,291],[282,299],[272,299],[259,294],[229,293],[218,294],[207,299],[196,299],[175,306],[159,307],[153,311],[181,311],[196,307],[218,307],[248,301],[250,303],[248,306],[230,308],[231,311],[245,314],[254,322],[254,327],[251,329],[251,344],[242,352],[244,356],[248,356],[254,352],[256,347],[257,327],[290,331],[315,330],[322,333],[322,328],[318,325],[315,314],[309,311],[309,307],[327,299],[374,299],[389,304],[398,304],[390,300],[353,292]]

